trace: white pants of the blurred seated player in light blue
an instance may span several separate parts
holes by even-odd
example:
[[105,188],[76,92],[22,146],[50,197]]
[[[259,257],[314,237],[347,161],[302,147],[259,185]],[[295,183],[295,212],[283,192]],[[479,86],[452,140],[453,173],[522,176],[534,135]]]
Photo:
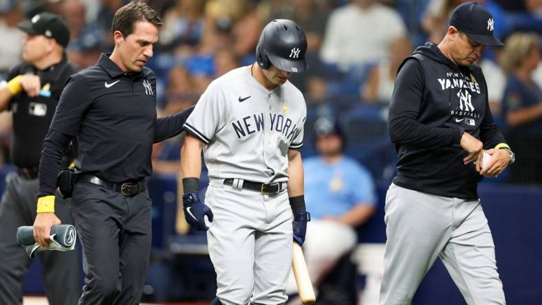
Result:
[[[307,223],[303,254],[312,284],[332,269],[345,253],[356,246],[358,236],[353,227],[336,221],[311,220]],[[294,272],[290,271],[286,293],[297,293]]]

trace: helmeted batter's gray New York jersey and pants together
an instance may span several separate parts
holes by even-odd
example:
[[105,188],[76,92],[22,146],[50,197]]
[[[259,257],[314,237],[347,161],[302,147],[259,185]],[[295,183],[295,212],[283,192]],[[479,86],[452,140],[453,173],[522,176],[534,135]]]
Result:
[[[290,82],[265,89],[241,67],[213,81],[184,128],[208,144],[205,203],[217,297],[224,305],[283,304],[292,262],[288,192],[261,194],[242,181],[288,181],[288,150],[303,144],[305,99]],[[224,179],[237,179],[235,186]],[[251,263],[252,262],[252,263]]]

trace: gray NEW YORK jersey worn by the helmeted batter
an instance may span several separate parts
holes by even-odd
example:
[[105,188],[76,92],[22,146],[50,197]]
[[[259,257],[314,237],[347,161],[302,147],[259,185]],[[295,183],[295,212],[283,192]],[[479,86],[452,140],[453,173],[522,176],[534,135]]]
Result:
[[307,106],[290,82],[273,91],[250,75],[250,67],[217,78],[199,98],[184,128],[208,144],[209,179],[288,181],[288,149],[303,145]]

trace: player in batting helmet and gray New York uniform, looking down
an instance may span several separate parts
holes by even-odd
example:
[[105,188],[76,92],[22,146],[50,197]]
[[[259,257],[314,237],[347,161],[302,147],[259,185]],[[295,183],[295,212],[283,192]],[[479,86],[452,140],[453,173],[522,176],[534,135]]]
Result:
[[[271,21],[261,33],[257,63],[213,81],[184,124],[184,214],[196,229],[208,229],[217,273],[213,305],[288,300],[292,214],[300,245],[310,218],[299,153],[307,109],[301,91],[288,82],[292,73],[307,70],[306,49],[296,23]],[[202,149],[210,181],[206,205],[197,196]]]

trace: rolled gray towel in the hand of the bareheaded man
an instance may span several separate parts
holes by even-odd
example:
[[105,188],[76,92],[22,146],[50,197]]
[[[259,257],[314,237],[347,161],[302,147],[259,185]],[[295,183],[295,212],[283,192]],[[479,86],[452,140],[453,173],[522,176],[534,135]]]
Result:
[[34,240],[34,228],[22,226],[17,229],[17,242],[24,247],[28,256],[33,258],[36,253],[46,250],[69,251],[75,247],[77,234],[73,225],[54,225],[51,227],[51,242],[47,247],[40,247]]

